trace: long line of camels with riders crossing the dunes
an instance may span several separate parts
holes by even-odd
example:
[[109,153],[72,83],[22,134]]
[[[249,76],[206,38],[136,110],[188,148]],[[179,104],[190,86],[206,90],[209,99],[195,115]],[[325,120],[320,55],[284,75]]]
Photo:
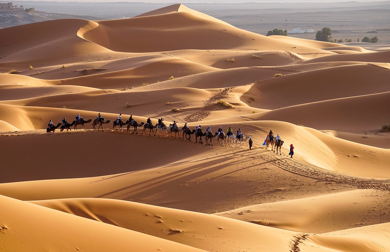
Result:
[[[126,122],[124,122],[124,121],[122,121],[122,114],[119,114],[118,118],[114,121],[111,121],[111,120],[106,121],[104,119],[104,117],[101,116],[100,113],[96,117],[96,119],[94,119],[94,120],[92,120],[92,119],[85,120],[84,118],[82,118],[80,116],[80,114],[78,114],[76,116],[76,120],[74,120],[72,123],[69,123],[68,121],[66,121],[66,118],[64,117],[62,119],[62,123],[59,122],[57,125],[54,125],[53,121],[51,121],[51,119],[50,119],[50,122],[48,124],[47,129],[46,129],[46,132],[54,132],[57,128],[60,128],[60,131],[64,131],[65,129],[66,129],[66,131],[68,131],[68,130],[71,131],[72,126],[73,126],[74,130],[78,130],[78,126],[80,126],[80,125],[81,125],[81,129],[84,128],[84,130],[86,130],[85,124],[90,123],[90,122],[92,122],[92,127],[94,130],[96,130],[96,126],[98,125],[99,127],[97,128],[97,131],[99,131],[100,128],[102,131],[104,131],[103,125],[112,122],[113,123],[112,129],[114,132],[115,132],[116,127],[119,127],[118,132],[121,130],[123,132],[123,126],[126,126],[127,133],[130,133],[131,128],[133,128],[133,132],[131,132],[131,133],[138,134],[138,132],[137,132],[138,127],[144,126],[142,129],[141,135],[144,135],[144,133],[145,133],[145,135],[147,135],[147,130],[149,130],[149,136],[153,133],[154,136],[157,135],[158,137],[160,137],[159,131],[163,131],[163,137],[167,136],[167,137],[173,138],[173,133],[175,133],[175,138],[176,138],[176,136],[178,136],[179,139],[181,139],[180,135],[182,134],[183,139],[185,138],[186,140],[191,141],[191,135],[195,134],[195,142],[198,142],[198,138],[199,138],[200,144],[203,144],[203,141],[205,141],[206,145],[213,146],[213,139],[216,138],[218,146],[237,147],[237,148],[241,148],[241,149],[243,148],[243,142],[245,142],[246,140],[249,140],[248,141],[249,142],[249,149],[252,148],[252,137],[250,137],[250,136],[244,137],[244,134],[241,132],[241,129],[238,129],[238,131],[235,135],[233,133],[232,128],[229,127],[229,129],[227,129],[227,133],[225,134],[225,132],[223,132],[223,130],[222,130],[222,127],[220,126],[218,128],[218,132],[213,134],[211,132],[210,127],[208,127],[206,129],[206,132],[203,132],[201,125],[197,126],[196,129],[191,130],[187,126],[187,123],[185,123],[184,126],[181,129],[179,129],[176,121],[174,121],[173,124],[169,124],[169,126],[166,126],[163,121],[164,121],[164,119],[160,118],[160,119],[158,119],[158,123],[153,125],[152,120],[149,117],[147,119],[146,123],[144,123],[144,122],[138,123],[135,119],[133,119],[133,115],[130,115],[129,119]],[[280,139],[279,134],[277,135],[277,137],[274,137],[273,132],[271,130],[271,131],[269,131],[269,134],[267,135],[266,139],[264,140],[263,145],[266,145],[267,149],[268,149],[269,145],[271,145],[271,151],[273,151],[273,152],[276,151],[277,152],[276,154],[280,153],[280,155],[282,155],[281,148],[282,148],[283,144],[284,144],[284,141],[282,141]],[[274,149],[274,147],[275,147],[275,149]]]

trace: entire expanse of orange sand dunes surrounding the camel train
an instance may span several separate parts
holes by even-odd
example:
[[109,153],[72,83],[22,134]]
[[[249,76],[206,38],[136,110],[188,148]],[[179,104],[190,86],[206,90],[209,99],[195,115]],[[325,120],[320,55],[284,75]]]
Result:
[[[390,250],[383,47],[265,37],[181,4],[0,37],[0,250]],[[137,124],[113,128],[120,113]],[[144,131],[161,117],[245,141]]]

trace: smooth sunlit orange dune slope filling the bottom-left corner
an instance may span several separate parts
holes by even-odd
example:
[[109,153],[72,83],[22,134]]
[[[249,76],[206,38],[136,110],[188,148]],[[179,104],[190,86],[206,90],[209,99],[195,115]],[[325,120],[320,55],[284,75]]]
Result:
[[[2,248],[31,250],[203,251],[147,234],[0,196]],[[50,221],[49,221],[50,220]]]

